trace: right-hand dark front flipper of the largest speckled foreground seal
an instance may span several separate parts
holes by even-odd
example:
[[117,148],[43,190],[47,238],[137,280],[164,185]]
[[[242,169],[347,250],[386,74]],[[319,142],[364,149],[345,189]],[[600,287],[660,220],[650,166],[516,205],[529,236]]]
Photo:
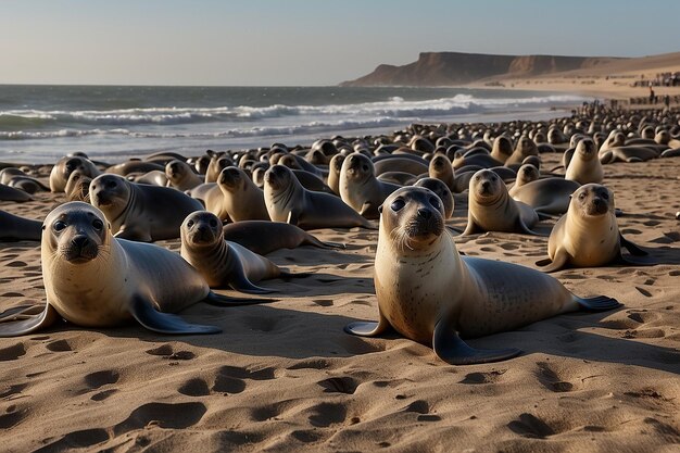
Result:
[[438,357],[451,365],[499,362],[521,354],[521,351],[515,348],[474,349],[458,337],[453,326],[443,319],[435,326],[432,349]]

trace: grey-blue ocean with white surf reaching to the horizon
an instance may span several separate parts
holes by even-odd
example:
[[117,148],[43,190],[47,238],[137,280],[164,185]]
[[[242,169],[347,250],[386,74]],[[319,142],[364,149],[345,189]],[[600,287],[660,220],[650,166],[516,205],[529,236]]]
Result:
[[545,119],[587,100],[463,88],[4,85],[0,161],[51,163],[81,151],[119,162],[156,151],[308,144],[411,123]]

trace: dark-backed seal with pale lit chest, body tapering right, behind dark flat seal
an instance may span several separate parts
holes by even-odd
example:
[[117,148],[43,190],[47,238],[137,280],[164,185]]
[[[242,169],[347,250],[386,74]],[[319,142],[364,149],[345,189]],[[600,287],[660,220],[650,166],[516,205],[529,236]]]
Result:
[[264,175],[264,201],[274,222],[286,222],[302,229],[351,228],[373,225],[339,198],[306,190],[292,171],[273,165]]

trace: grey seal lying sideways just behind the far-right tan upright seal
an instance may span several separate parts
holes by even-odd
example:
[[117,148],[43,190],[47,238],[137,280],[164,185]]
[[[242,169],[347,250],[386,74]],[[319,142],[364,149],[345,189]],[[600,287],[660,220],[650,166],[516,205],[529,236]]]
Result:
[[[533,167],[533,165],[525,164],[519,169],[521,171],[527,165]],[[519,176],[517,179],[519,179]],[[514,200],[530,205],[537,213],[564,214],[569,207],[571,193],[579,187],[580,184],[577,181],[551,177],[536,179],[518,187],[515,186],[508,191],[508,194]]]

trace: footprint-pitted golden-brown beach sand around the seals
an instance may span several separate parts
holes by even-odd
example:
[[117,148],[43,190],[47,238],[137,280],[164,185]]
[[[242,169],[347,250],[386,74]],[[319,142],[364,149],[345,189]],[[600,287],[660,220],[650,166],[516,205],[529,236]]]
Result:
[[[559,155],[543,159],[550,166]],[[1,450],[677,452],[679,172],[678,158],[605,166],[626,213],[622,234],[660,264],[554,274],[580,295],[608,294],[624,306],[470,340],[520,348],[517,358],[450,366],[398,336],[345,335],[352,320],[377,319],[377,231],[315,230],[348,249],[268,255],[311,273],[267,281],[277,302],[182,313],[224,334],[63,325],[0,339]],[[41,219],[63,201],[41,193],[1,209]],[[464,226],[464,204],[451,225]],[[487,234],[456,242],[468,255],[532,266],[547,239]],[[178,249],[177,240],[159,243]],[[37,242],[0,243],[0,263],[1,311],[45,301]]]

